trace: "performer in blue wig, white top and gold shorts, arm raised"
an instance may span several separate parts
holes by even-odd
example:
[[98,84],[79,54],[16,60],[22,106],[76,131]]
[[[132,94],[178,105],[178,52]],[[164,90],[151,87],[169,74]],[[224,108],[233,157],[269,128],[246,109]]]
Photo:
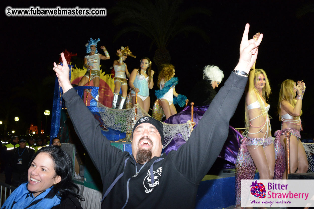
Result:
[[[87,69],[85,75],[82,77],[82,79],[78,82],[78,86],[85,86],[88,81],[93,81],[94,86],[99,87],[99,80],[100,80],[100,60],[109,60],[110,55],[106,49],[105,46],[101,46],[100,49],[104,50],[105,55],[102,55],[98,53],[97,51],[97,42],[100,41],[100,39],[92,39],[88,41],[86,46],[86,52],[89,53],[89,55],[86,55],[84,57],[84,65],[83,67]],[[90,75],[90,77],[89,77]],[[96,96],[96,100],[98,101],[99,97],[99,90],[98,94]]]

